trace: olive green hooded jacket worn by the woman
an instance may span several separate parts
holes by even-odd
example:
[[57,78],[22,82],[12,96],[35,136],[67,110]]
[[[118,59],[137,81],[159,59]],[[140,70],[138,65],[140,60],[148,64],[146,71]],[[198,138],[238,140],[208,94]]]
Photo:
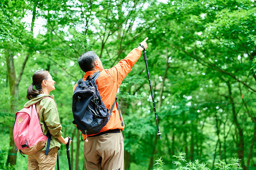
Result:
[[[57,146],[60,149],[61,142],[57,139],[62,136],[61,124],[59,119],[59,113],[57,104],[54,100],[54,95],[39,94],[34,99],[29,100],[24,107],[36,104],[36,110],[39,115],[39,122],[43,131],[43,134],[51,133],[50,149]],[[48,141],[48,140],[47,140]],[[41,150],[46,150],[46,145]]]

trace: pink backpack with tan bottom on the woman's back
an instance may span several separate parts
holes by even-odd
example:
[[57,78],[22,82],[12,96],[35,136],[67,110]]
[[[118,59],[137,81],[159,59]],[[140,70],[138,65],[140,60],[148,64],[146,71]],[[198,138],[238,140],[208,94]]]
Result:
[[[45,155],[48,155],[50,146],[51,136],[48,134],[50,134],[49,131],[47,133],[49,137]],[[15,114],[13,138],[21,155],[31,155],[42,149],[47,136],[42,132],[35,105],[23,108]]]

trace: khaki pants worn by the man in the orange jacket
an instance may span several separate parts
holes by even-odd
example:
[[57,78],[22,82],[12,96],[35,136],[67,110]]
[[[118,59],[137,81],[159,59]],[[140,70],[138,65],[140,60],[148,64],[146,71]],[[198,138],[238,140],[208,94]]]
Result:
[[84,164],[86,170],[123,170],[123,134],[107,133],[88,137],[84,142]]

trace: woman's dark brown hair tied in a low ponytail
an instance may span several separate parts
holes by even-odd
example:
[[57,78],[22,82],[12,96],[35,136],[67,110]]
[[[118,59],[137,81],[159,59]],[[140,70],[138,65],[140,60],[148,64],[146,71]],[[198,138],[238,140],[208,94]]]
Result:
[[[28,86],[27,99],[31,100],[35,98],[38,94],[42,93],[42,81],[47,80],[49,71],[37,71],[33,74],[33,83]],[[34,87],[36,89],[34,89]]]

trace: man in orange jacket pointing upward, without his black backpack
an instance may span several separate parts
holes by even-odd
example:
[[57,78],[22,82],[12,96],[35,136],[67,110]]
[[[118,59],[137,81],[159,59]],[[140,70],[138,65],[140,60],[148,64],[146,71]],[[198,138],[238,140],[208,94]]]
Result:
[[[110,69],[104,69],[100,58],[93,51],[83,53],[78,63],[85,72],[83,81],[96,71],[100,75],[96,80],[101,99],[107,109],[110,110],[115,102],[117,89],[124,78],[131,71],[132,66],[138,61],[143,51],[146,49],[146,38],[140,43],[138,48],[134,48],[124,59],[120,60]],[[73,88],[73,92],[77,84]],[[122,130],[124,129],[123,117],[115,103],[114,109],[108,123],[99,133],[87,135],[88,142],[84,143],[84,158],[86,170],[123,170],[124,169],[124,142]],[[83,134],[83,139],[86,135]]]

